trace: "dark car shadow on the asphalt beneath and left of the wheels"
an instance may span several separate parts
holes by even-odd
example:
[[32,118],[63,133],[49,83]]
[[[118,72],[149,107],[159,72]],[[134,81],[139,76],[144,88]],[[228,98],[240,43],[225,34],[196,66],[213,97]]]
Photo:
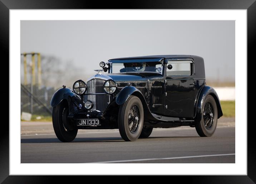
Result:
[[[139,138],[139,140],[148,140],[148,139],[154,139],[154,138],[192,138],[197,136],[189,136],[189,137],[148,137],[148,138]],[[198,136],[199,137],[199,136]],[[58,140],[58,138],[25,138],[21,139],[21,143],[60,143],[61,141]],[[76,142],[124,142],[124,140],[121,137],[91,137],[91,138],[75,138],[72,143]]]

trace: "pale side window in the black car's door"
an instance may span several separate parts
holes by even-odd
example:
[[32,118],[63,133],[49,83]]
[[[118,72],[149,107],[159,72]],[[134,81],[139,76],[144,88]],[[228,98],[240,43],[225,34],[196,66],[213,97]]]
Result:
[[[190,76],[192,75],[192,61],[168,61],[166,68],[167,76]],[[169,67],[168,67],[169,65]]]

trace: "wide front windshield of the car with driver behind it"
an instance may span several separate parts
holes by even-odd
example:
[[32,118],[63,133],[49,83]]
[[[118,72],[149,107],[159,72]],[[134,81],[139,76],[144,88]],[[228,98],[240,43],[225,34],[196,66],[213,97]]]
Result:
[[162,74],[163,65],[161,62],[112,63],[110,73],[124,72],[157,72]]

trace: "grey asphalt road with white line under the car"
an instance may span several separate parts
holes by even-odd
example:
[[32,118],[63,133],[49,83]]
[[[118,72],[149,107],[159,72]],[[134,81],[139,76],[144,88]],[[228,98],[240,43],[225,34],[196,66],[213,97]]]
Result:
[[118,130],[79,132],[70,143],[53,133],[21,132],[21,163],[235,163],[234,122],[218,123],[212,137],[191,127],[155,128],[134,142],[123,141]]

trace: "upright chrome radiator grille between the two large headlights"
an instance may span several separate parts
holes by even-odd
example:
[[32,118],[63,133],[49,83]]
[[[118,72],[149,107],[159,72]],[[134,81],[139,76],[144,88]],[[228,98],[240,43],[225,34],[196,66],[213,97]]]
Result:
[[[105,93],[103,89],[103,84],[105,80],[102,79],[92,79],[87,82],[87,93]],[[93,102],[92,111],[104,111],[109,102],[108,94],[99,94],[99,95],[88,95],[87,99]]]

